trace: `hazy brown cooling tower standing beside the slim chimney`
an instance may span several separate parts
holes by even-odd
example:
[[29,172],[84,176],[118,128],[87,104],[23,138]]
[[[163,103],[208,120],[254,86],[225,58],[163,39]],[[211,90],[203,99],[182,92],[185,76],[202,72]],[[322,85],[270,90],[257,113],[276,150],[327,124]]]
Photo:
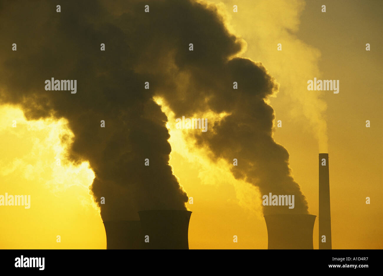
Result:
[[265,215],[267,249],[314,249],[314,215]]

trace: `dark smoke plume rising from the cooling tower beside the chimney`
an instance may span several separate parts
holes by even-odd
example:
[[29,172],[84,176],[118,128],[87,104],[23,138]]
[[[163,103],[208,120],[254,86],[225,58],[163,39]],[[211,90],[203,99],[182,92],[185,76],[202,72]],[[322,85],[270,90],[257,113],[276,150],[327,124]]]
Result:
[[[162,55],[171,64],[152,63],[164,74],[155,84],[157,94],[165,98],[175,117],[200,117],[207,111],[229,114],[214,126],[210,122],[207,132],[194,131],[197,145],[207,146],[213,159],[233,162],[236,158],[234,176],[257,185],[262,195],[295,195],[294,209],[272,206],[264,208],[265,214],[307,213],[305,197],[290,175],[288,152],[272,138],[274,112],[265,99],[277,92],[275,80],[262,64],[232,58],[242,50],[241,40],[224,28],[214,5],[159,2],[151,12],[151,22],[172,18],[165,25],[150,23],[137,36],[151,60]],[[132,17],[129,26],[141,15]],[[164,39],[153,40],[159,35]],[[234,82],[238,89],[233,89]]]

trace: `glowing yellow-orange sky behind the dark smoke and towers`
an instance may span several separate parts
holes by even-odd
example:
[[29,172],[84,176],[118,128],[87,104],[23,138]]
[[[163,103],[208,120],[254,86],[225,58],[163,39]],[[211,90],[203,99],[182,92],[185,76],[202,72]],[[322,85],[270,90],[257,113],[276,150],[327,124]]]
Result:
[[[274,138],[290,153],[295,181],[313,215],[318,215],[318,153],[326,150],[328,137],[332,248],[383,248],[381,4],[327,2],[237,0],[220,7],[228,27],[247,42],[242,56],[262,61],[280,83],[270,99],[276,120],[282,120]],[[323,4],[326,13],[320,11]],[[339,79],[339,94],[307,91],[314,77]],[[192,130],[176,129],[165,103],[163,111],[169,117],[170,164],[193,197],[190,248],[267,248],[257,188],[235,180],[223,160],[213,163],[203,149],[188,148],[184,136]],[[0,248],[106,248],[88,192],[94,174],[87,163],[65,162],[66,145],[59,139],[64,133],[70,134],[64,120],[26,121],[20,109],[0,106],[0,195],[31,195],[30,209],[0,207]],[[314,248],[317,236],[318,219]]]

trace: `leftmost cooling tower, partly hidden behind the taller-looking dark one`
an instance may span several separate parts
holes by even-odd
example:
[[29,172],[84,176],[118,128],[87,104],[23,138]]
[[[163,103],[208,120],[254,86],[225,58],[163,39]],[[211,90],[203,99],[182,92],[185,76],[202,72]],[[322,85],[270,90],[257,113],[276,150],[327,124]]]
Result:
[[142,249],[139,220],[104,221],[106,249]]

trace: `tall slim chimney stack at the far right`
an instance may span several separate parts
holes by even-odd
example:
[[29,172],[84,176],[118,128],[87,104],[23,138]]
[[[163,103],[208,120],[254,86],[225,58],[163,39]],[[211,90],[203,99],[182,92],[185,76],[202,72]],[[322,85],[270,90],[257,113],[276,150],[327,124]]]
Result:
[[[322,242],[326,236],[326,242]],[[329,154],[319,154],[319,249],[331,249]]]

